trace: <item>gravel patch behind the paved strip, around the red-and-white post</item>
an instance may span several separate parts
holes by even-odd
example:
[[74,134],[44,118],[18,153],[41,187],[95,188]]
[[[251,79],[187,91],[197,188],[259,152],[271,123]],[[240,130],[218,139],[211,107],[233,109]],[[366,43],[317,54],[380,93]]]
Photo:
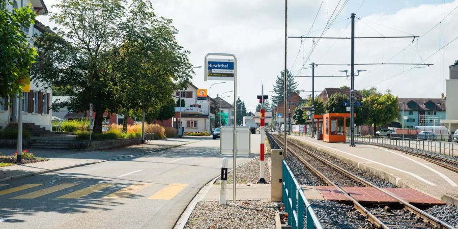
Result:
[[[259,170],[259,157],[237,166],[237,184],[256,184],[260,179]],[[232,184],[233,177],[234,173],[229,171],[227,173],[227,184]],[[270,158],[267,157],[264,163],[264,179],[270,184]],[[220,183],[221,181],[218,178],[214,184]]]

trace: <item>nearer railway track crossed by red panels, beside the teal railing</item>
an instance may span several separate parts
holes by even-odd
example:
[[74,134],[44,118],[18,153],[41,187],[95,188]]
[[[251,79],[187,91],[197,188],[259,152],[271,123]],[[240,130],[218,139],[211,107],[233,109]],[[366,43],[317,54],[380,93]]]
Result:
[[[273,135],[273,140],[278,146],[283,146],[283,138],[278,135]],[[370,182],[350,173],[344,168],[341,168],[323,158],[320,155],[305,149],[295,142],[288,141],[288,152],[296,156],[306,167],[313,171],[328,185],[335,186],[339,191],[344,193],[353,203],[354,208],[365,216],[377,228],[453,228],[447,223],[437,219],[436,217],[418,209],[417,207],[407,203],[403,199],[397,197],[389,191],[381,189]],[[351,181],[350,181],[351,180]],[[386,193],[396,199],[400,210],[391,210],[388,207],[365,208],[358,201],[342,190],[337,184],[353,184],[352,186],[373,187],[381,192]],[[348,186],[348,185],[345,185]],[[406,214],[415,214],[417,217],[409,217]]]

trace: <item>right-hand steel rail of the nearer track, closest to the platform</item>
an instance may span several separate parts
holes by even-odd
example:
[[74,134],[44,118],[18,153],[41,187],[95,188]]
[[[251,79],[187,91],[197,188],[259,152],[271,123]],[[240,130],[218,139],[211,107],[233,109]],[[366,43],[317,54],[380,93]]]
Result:
[[[354,178],[354,179],[356,179],[357,181],[359,181],[359,182],[361,182],[361,183],[363,183],[363,184],[367,184],[368,187],[376,188],[377,190],[379,190],[379,191],[381,191],[381,192],[387,194],[388,196],[390,196],[390,197],[396,199],[396,201],[398,201],[399,204],[404,205],[404,208],[405,208],[405,209],[409,210],[410,212],[413,212],[415,215],[417,215],[418,217],[420,217],[421,219],[423,219],[424,222],[430,222],[432,225],[434,225],[434,226],[436,226],[436,227],[438,227],[438,228],[447,228],[447,229],[453,229],[453,228],[454,228],[454,227],[448,225],[447,223],[443,222],[442,220],[439,220],[438,218],[436,218],[436,217],[434,217],[434,216],[432,216],[432,215],[430,215],[430,214],[428,214],[428,213],[426,213],[426,212],[424,212],[424,211],[418,209],[417,207],[415,207],[415,206],[409,204],[408,202],[404,201],[404,199],[399,198],[399,197],[396,196],[395,194],[393,194],[393,193],[391,193],[391,192],[389,192],[389,191],[387,191],[387,190],[385,190],[385,189],[379,188],[379,187],[377,187],[376,185],[371,184],[370,182],[367,182],[367,181],[365,181],[364,179],[362,179],[362,178],[360,178],[360,177],[358,177],[358,176],[356,176],[356,175],[353,175],[352,173],[350,173],[350,172],[347,171],[346,169],[341,168],[341,167],[339,167],[339,166],[333,164],[332,162],[329,162],[329,161],[327,161],[327,160],[325,160],[325,159],[322,159],[319,155],[310,152],[309,150],[307,150],[307,149],[305,149],[305,148],[299,146],[299,145],[296,144],[295,142],[290,141],[290,144],[292,144],[292,145],[294,145],[295,147],[301,149],[302,151],[308,153],[309,155],[312,155],[313,157],[315,157],[315,158],[321,160],[322,162],[328,164],[329,166],[331,166],[331,167],[333,167],[333,168],[336,168],[336,169],[340,170],[341,173],[347,174],[347,176],[349,176],[349,177],[351,177],[351,178]],[[291,150],[289,149],[289,151],[291,151]],[[292,152],[293,152],[293,151],[292,151]],[[296,154],[296,153],[293,152],[293,154]],[[296,154],[296,157],[299,158],[299,155]],[[342,191],[344,194],[348,194],[347,192],[345,192],[345,191],[343,191],[343,190],[341,190],[341,191]]]

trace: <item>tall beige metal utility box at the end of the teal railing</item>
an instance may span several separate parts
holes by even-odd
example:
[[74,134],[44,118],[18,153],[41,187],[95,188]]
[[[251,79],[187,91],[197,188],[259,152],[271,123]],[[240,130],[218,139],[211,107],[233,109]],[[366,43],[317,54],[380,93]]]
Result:
[[271,159],[271,200],[272,202],[281,202],[283,193],[283,150],[272,149]]

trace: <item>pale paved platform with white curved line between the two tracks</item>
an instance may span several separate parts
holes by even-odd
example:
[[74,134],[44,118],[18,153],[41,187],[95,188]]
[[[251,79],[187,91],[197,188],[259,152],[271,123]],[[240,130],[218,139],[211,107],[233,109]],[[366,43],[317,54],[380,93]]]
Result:
[[305,136],[290,136],[322,152],[390,181],[410,187],[437,199],[458,194],[458,174],[439,165],[400,151],[369,145],[329,143]]

